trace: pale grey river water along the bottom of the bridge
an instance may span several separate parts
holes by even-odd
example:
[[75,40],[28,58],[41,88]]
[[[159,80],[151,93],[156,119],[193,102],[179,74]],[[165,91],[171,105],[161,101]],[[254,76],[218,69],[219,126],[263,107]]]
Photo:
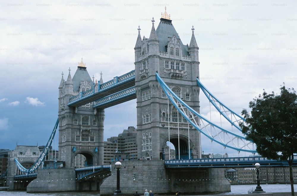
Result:
[[[250,189],[255,189],[256,184],[231,185],[231,192],[221,193],[224,195],[247,194]],[[261,184],[266,193],[268,192],[291,192],[290,184]],[[297,192],[297,184],[294,184],[294,191]],[[99,192],[59,192],[59,193],[26,193],[25,191],[0,191],[0,195],[5,196],[91,196],[99,195]],[[181,194],[182,195],[182,194]],[[157,196],[157,195],[156,195]],[[165,196],[165,195],[163,195]]]

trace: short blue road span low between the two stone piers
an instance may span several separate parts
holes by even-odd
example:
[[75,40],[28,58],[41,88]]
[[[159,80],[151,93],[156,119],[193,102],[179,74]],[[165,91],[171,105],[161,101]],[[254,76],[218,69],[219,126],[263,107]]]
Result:
[[75,169],[77,180],[91,178],[94,176],[95,173],[106,173],[106,171],[111,171],[111,165],[97,165],[90,167],[80,167]]

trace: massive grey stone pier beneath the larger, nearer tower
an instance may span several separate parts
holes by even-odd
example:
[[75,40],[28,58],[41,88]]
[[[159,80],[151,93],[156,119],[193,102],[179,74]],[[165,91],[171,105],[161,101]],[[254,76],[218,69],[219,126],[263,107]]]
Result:
[[[230,192],[231,186],[225,179],[224,169],[208,168],[166,168],[162,160],[121,161],[120,190],[124,195],[145,189],[154,194],[201,194]],[[111,166],[111,176],[100,186],[100,195],[113,195],[116,190],[115,162]]]

